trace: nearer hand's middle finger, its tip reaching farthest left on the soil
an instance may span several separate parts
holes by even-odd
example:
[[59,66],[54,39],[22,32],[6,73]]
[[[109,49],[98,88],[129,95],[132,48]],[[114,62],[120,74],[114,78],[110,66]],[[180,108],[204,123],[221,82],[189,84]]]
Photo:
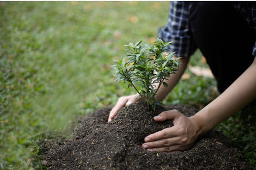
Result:
[[175,145],[180,145],[180,138],[168,138],[168,139],[162,139],[154,142],[146,142],[143,143],[142,148],[145,149],[151,149],[151,148],[162,148],[162,147],[170,147]]

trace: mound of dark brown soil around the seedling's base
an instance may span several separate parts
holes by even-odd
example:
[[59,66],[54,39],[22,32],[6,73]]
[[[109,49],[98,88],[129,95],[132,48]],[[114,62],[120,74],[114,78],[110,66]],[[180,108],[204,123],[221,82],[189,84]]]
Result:
[[193,148],[180,153],[141,148],[147,135],[173,125],[172,121],[156,122],[154,116],[170,109],[191,116],[197,112],[194,107],[159,106],[153,113],[139,101],[122,108],[107,123],[110,109],[85,116],[71,140],[45,140],[41,154],[47,169],[250,169],[238,159],[237,150],[230,147],[228,139],[214,129],[198,139]]

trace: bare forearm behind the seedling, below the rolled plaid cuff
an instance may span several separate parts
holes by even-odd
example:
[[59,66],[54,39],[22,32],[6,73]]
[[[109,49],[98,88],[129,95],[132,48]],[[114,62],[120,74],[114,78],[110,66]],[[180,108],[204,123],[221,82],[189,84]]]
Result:
[[[176,86],[176,84],[179,82],[182,74],[185,72],[187,64],[188,64],[189,58],[180,58],[179,63],[179,71],[176,72],[176,74],[172,74],[171,77],[166,80],[165,82],[168,84],[168,87],[164,87],[163,84],[159,88],[156,98],[159,100],[163,100],[167,94]],[[157,87],[158,84],[156,84]]]

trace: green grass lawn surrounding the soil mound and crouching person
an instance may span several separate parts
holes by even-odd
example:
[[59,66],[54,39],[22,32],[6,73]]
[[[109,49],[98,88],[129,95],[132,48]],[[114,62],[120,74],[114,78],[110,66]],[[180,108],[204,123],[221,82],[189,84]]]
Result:
[[[169,2],[0,2],[0,169],[38,169],[44,134],[134,94],[109,66],[125,44],[154,41],[168,12]],[[198,50],[190,65],[207,68]],[[186,74],[165,104],[203,107],[217,95],[214,79]],[[255,166],[255,109],[246,112],[218,128]]]

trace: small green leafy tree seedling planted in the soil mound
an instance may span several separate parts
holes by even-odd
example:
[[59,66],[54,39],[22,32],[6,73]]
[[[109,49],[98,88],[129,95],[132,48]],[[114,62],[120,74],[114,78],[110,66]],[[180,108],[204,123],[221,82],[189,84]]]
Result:
[[128,83],[128,87],[133,87],[155,111],[156,105],[162,104],[155,98],[159,87],[167,87],[165,82],[171,74],[178,71],[179,58],[174,58],[174,53],[167,54],[167,48],[171,42],[165,43],[161,39],[156,39],[152,45],[140,46],[141,41],[129,45],[127,55],[117,64],[112,65],[117,81],[123,80]]

